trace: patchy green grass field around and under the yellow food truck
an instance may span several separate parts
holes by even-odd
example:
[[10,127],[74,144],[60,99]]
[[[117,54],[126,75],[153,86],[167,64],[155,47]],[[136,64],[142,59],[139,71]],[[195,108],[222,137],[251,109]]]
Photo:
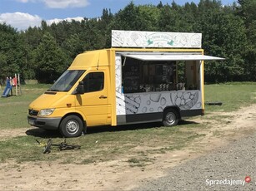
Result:
[[[205,125],[193,122],[193,118],[182,121],[179,125],[168,128],[158,123],[143,125],[123,125],[118,127],[97,127],[88,129],[88,134],[68,139],[68,143],[80,144],[79,150],[58,151],[43,154],[43,147],[36,139],[53,143],[63,141],[58,132],[48,132],[31,128],[27,123],[29,103],[48,89],[48,85],[23,86],[22,96],[0,99],[0,130],[24,130],[24,134],[4,137],[0,140],[0,162],[14,160],[53,161],[59,163],[90,164],[93,162],[118,159],[123,154],[130,154],[127,162],[131,166],[143,166],[153,163],[151,154],[163,154],[169,150],[181,149],[194,139],[200,139]],[[2,95],[2,91],[1,95]],[[206,101],[221,101],[222,106],[206,106],[206,117],[213,111],[233,111],[241,106],[256,103],[256,83],[228,83],[205,86]],[[204,118],[203,116],[202,118]],[[216,116],[217,117],[217,116]],[[138,149],[138,147],[143,149]]]

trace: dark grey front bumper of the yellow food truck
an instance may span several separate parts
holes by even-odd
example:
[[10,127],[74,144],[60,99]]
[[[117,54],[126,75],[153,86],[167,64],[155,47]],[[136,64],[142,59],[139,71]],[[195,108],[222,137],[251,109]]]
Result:
[[32,117],[28,115],[28,124],[45,129],[45,130],[58,130],[58,125],[62,120],[61,117],[43,118]]

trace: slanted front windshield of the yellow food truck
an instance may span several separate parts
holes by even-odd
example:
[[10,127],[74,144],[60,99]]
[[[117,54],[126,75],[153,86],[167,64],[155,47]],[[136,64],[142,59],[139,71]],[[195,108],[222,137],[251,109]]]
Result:
[[84,70],[65,71],[48,91],[70,91],[83,73]]

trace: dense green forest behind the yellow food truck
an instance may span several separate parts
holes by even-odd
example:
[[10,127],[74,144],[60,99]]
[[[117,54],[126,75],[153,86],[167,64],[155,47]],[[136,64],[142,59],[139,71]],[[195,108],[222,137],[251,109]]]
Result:
[[[23,80],[53,83],[83,51],[111,47],[111,30],[199,32],[206,55],[225,57],[207,61],[206,82],[256,81],[256,0],[201,0],[157,6],[130,2],[113,14],[82,22],[63,21],[18,31],[0,23],[0,79],[20,73]],[[46,77],[47,76],[47,77]]]

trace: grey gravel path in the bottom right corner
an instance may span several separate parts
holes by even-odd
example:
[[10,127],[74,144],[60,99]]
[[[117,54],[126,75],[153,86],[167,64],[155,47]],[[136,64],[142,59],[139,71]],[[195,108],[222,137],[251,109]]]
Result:
[[[148,181],[135,190],[256,190],[255,142],[256,133],[233,140],[226,147],[174,167],[167,176]],[[247,176],[250,182],[245,182]]]

